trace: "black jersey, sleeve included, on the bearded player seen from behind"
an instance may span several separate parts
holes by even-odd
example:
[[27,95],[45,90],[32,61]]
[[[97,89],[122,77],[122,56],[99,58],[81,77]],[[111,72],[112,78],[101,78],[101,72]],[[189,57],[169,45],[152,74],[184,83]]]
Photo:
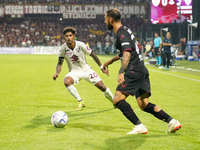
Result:
[[131,29],[126,26],[120,27],[115,38],[115,47],[120,58],[123,56],[123,52],[125,51],[129,51],[131,53],[131,58],[126,71],[146,73],[147,69],[144,66],[142,55],[139,54],[137,41],[135,40],[135,36],[133,35]]

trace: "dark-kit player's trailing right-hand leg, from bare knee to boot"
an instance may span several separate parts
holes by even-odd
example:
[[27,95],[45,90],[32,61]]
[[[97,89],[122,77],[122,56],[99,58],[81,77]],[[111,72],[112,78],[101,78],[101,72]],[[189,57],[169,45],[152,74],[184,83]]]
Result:
[[159,106],[152,104],[149,102],[149,94],[145,93],[137,98],[138,106],[141,110],[151,113],[156,118],[163,120],[167,123],[169,123],[168,131],[169,133],[176,132],[178,129],[181,128],[181,124],[178,120],[173,119],[171,116],[169,116],[167,113],[165,113]]

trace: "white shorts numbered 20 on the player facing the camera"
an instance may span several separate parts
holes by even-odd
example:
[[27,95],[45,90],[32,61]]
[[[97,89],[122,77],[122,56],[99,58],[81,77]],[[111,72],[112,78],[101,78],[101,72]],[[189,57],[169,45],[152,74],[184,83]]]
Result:
[[66,77],[71,77],[74,80],[74,84],[78,84],[81,79],[84,79],[93,85],[97,84],[99,81],[101,81],[101,78],[99,75],[92,69],[87,70],[73,70],[69,72]]

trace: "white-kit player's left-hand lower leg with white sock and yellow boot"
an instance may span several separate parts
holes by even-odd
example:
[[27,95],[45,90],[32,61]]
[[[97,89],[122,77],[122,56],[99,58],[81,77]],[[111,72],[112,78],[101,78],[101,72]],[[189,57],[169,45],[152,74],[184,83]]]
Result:
[[78,107],[76,108],[76,110],[81,110],[83,107],[85,107],[85,103],[83,102],[80,95],[78,94],[77,89],[73,86],[73,83],[74,83],[74,80],[70,76],[67,76],[64,80],[66,89],[78,101]]

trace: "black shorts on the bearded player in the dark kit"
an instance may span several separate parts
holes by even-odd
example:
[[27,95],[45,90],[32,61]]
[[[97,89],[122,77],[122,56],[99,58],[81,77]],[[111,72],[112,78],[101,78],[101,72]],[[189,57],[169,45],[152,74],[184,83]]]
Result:
[[127,95],[132,95],[136,98],[140,97],[144,93],[148,93],[151,96],[149,74],[140,72],[127,71],[124,74],[124,83],[122,86],[117,86],[117,91],[120,91]]

